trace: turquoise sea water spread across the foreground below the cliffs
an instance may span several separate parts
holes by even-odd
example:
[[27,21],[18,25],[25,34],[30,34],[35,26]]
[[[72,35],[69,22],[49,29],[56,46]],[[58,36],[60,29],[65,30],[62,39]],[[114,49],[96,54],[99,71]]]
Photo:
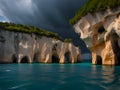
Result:
[[120,90],[120,66],[0,64],[0,90]]

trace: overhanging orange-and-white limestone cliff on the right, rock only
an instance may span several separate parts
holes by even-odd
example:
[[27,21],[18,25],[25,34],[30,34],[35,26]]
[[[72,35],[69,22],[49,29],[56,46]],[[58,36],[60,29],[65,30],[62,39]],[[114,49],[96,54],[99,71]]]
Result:
[[74,28],[91,49],[93,64],[120,64],[120,7],[87,14]]

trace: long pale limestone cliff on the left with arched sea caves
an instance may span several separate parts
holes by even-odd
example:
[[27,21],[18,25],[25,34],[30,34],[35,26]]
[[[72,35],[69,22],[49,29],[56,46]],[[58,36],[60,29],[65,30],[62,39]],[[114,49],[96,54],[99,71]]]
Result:
[[78,47],[48,37],[0,30],[0,63],[81,62]]

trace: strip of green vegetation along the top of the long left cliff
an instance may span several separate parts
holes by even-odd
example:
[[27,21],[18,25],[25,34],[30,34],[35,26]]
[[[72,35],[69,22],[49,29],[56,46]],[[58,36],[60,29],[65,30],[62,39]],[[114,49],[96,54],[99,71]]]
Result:
[[49,32],[44,29],[40,29],[34,26],[25,26],[22,24],[14,24],[14,23],[8,23],[8,22],[0,22],[0,29],[7,30],[7,31],[14,31],[14,32],[22,32],[22,33],[28,33],[28,34],[36,34],[38,36],[46,36],[51,37],[57,40],[61,40],[64,42],[72,42],[71,39],[62,39],[58,36],[57,33]]

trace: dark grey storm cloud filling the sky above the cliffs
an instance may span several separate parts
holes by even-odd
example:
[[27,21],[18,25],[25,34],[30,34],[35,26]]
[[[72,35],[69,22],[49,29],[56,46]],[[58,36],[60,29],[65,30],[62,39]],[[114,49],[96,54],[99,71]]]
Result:
[[[85,46],[69,25],[69,19],[86,0],[0,0],[0,16],[10,22],[34,25],[57,32]],[[82,44],[82,45],[81,45]]]

